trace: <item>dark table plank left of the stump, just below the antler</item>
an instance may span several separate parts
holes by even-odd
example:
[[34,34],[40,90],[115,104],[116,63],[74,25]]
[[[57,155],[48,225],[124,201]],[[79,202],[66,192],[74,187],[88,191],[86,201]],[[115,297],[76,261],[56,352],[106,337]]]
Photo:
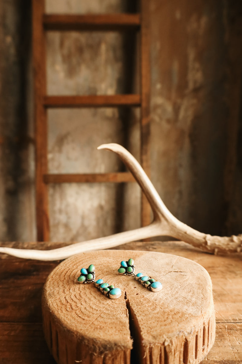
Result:
[[1,260],[0,322],[42,321],[42,289],[48,274],[57,264],[22,259]]

